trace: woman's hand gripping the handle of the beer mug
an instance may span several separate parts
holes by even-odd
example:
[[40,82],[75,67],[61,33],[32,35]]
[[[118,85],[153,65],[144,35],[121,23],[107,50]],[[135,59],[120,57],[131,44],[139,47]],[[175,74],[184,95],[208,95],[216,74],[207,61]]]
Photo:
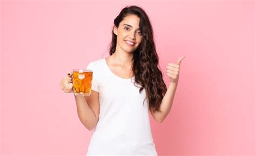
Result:
[[67,76],[63,77],[62,81],[60,81],[60,87],[65,93],[73,92],[73,80],[72,80],[73,72],[69,72]]

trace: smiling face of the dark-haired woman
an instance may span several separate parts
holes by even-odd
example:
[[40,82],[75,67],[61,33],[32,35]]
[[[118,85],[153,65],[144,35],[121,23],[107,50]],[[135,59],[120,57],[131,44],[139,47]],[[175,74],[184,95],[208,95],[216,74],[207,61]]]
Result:
[[139,29],[139,17],[136,15],[126,16],[119,26],[114,26],[114,34],[117,35],[117,49],[125,52],[134,52],[142,42],[142,33]]

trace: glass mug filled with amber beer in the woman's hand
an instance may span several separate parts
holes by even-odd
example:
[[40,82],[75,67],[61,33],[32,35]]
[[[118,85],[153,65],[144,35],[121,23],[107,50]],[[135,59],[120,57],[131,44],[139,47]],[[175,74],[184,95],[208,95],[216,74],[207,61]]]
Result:
[[89,96],[91,94],[92,70],[74,69],[72,78],[75,95],[82,94]]

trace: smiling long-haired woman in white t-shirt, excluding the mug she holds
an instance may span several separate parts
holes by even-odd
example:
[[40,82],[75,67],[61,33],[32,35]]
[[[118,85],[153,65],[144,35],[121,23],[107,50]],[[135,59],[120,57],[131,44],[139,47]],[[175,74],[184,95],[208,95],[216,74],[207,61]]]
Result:
[[[79,119],[95,129],[87,155],[158,155],[149,111],[159,123],[169,114],[185,57],[168,63],[167,89],[149,17],[138,6],[124,8],[114,19],[109,53],[87,66],[93,70],[91,95],[75,95]],[[60,86],[65,93],[73,92],[72,72]]]

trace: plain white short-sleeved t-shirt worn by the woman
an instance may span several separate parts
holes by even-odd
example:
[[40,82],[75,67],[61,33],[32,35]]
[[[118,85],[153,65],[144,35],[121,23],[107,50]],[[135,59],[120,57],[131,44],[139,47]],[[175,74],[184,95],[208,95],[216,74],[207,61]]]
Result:
[[93,70],[91,88],[99,93],[100,112],[86,155],[157,156],[147,98],[143,105],[145,89],[140,94],[134,77],[117,76],[105,59],[90,62],[87,69]]

